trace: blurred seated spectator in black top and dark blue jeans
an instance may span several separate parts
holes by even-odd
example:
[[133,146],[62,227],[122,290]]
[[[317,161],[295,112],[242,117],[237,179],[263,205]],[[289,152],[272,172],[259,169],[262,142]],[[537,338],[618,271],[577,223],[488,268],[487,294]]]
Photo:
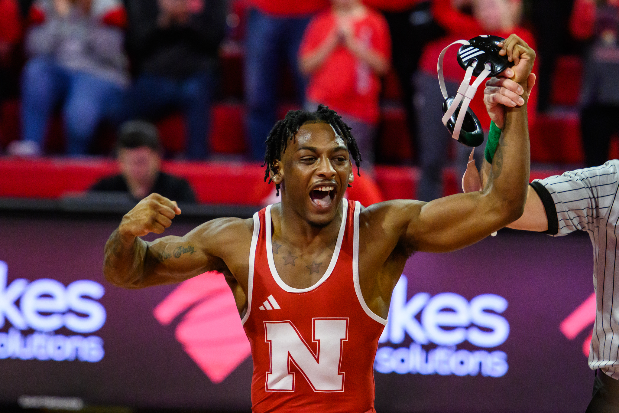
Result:
[[225,34],[225,0],[128,0],[128,44],[139,75],[124,119],[181,110],[185,156],[206,159],[210,105],[217,86],[217,51]]

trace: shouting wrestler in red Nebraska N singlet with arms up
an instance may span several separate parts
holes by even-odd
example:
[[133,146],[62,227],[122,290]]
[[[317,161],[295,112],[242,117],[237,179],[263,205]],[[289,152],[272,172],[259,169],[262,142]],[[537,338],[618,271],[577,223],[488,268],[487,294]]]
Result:
[[[535,52],[515,35],[503,50],[517,60],[506,75],[528,90]],[[344,198],[352,160],[357,168],[361,160],[350,128],[326,107],[290,111],[265,157],[281,202],[252,219],[215,219],[145,242],[139,237],[163,233],[181,213],[150,194],[112,233],[103,272],[131,289],[222,272],[251,344],[253,412],[374,412],[374,355],[407,258],[463,248],[522,214],[526,103],[506,108],[504,120],[483,191],[364,208]]]

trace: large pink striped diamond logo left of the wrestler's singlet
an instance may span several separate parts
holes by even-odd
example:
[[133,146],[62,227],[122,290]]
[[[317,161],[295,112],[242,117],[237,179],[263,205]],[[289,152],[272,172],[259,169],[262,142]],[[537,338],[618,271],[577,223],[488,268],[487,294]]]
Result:
[[251,354],[235,300],[217,272],[205,272],[176,287],[153,311],[169,325],[187,311],[176,326],[176,339],[213,383],[221,383]]

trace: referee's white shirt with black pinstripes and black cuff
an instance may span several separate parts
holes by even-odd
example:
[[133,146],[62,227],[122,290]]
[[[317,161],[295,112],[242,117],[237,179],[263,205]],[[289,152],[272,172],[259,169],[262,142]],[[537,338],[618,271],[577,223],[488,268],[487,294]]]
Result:
[[547,233],[582,230],[591,237],[597,311],[589,367],[619,379],[619,160],[535,180],[531,186],[546,209]]

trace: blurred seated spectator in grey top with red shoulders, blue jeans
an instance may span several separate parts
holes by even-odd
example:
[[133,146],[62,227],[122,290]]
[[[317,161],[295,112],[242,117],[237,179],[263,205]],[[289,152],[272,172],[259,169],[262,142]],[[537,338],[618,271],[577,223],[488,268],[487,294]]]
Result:
[[63,102],[69,155],[86,154],[98,123],[118,115],[128,84],[124,7],[118,0],[38,0],[30,8],[22,74],[23,141],[9,153],[38,155]]

